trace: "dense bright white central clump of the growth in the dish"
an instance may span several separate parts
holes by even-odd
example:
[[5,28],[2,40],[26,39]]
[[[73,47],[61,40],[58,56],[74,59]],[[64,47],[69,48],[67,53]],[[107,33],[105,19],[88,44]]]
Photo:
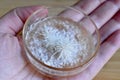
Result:
[[64,30],[58,31],[49,26],[45,26],[43,29],[44,33],[42,34],[45,36],[45,40],[42,42],[45,43],[44,46],[46,49],[51,49],[51,52],[54,52],[50,58],[54,58],[54,55],[59,54],[57,59],[63,59],[63,62],[71,62],[72,58],[76,56],[74,53],[77,53],[79,49],[74,35]]

